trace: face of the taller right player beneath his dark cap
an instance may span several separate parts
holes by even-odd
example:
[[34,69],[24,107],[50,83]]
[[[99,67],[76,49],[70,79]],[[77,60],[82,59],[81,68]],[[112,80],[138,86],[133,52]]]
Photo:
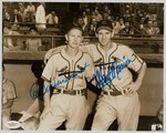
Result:
[[107,45],[110,44],[111,42],[111,38],[112,38],[112,32],[108,31],[108,30],[105,30],[105,29],[101,29],[98,32],[97,32],[97,38],[98,38],[98,41],[102,45]]

